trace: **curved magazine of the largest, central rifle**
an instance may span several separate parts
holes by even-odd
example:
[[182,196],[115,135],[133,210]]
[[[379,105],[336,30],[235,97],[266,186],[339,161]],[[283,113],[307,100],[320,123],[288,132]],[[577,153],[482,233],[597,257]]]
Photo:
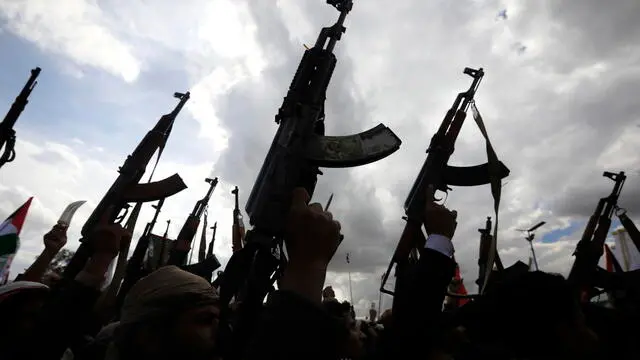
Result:
[[384,159],[400,148],[402,141],[383,124],[347,136],[316,136],[309,140],[306,158],[314,165],[345,168]]

